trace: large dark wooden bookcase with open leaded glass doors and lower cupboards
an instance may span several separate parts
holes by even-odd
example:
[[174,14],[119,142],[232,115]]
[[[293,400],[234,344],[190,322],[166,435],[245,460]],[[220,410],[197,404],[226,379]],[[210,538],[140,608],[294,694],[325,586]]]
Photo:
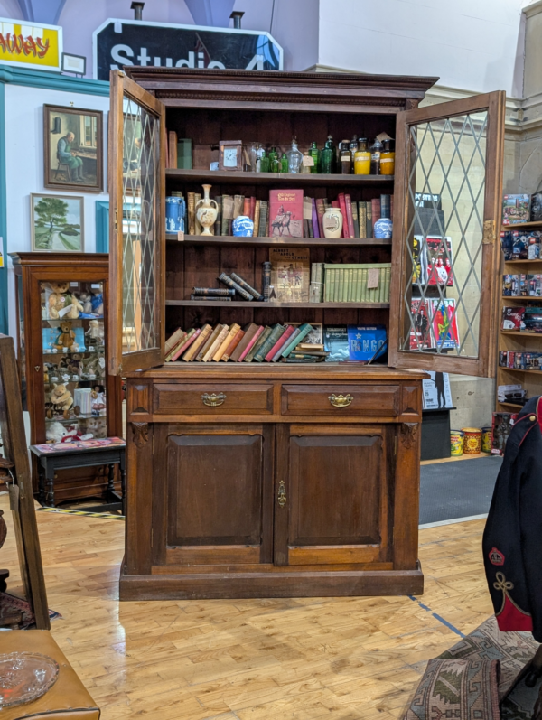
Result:
[[[126,73],[111,74],[108,154],[109,369],[127,379],[121,599],[420,593],[423,370],[491,375],[495,368],[504,94],[420,109],[435,78],[135,67]],[[468,122],[465,142],[487,156],[475,200],[480,227],[472,235],[481,277],[477,346],[458,346],[453,357],[412,351],[412,216],[414,191],[424,190],[416,138],[430,128],[460,147],[454,128]],[[166,127],[192,138],[195,169],[165,169]],[[293,135],[321,144],[330,133],[341,140],[382,131],[397,141],[395,177],[207,170],[215,159],[210,145],[220,139],[285,146]],[[218,286],[221,271],[260,288],[262,262],[276,243],[167,237],[165,195],[201,192],[202,182],[212,184],[211,196],[261,200],[275,187],[330,200],[339,192],[352,201],[393,193],[391,242],[284,242],[310,248],[311,262],[391,262],[390,303],[191,301],[192,286]],[[124,215],[135,202],[140,210],[131,222]],[[457,215],[465,211],[462,202]],[[457,266],[457,287],[462,272]],[[164,339],[173,330],[219,322],[382,323],[389,361],[164,364]],[[207,406],[209,393],[221,394],[223,403]],[[334,407],[333,394],[350,399]]]

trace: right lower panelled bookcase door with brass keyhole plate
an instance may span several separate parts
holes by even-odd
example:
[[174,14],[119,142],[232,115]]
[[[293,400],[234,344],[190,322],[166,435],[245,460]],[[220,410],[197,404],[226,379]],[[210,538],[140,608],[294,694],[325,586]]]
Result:
[[388,561],[391,430],[281,425],[276,432],[276,565]]

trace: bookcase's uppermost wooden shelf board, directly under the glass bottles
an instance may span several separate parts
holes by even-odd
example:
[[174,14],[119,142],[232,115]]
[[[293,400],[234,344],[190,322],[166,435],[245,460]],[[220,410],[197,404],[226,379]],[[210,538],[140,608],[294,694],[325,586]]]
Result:
[[393,175],[326,175],[323,173],[245,173],[243,171],[220,170],[176,170],[165,171],[166,180],[182,182],[214,182],[219,185],[382,185],[393,184]]

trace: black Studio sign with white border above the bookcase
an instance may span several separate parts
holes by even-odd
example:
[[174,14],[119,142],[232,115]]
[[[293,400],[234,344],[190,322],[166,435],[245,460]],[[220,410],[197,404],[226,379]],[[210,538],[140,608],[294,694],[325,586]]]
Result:
[[123,65],[282,70],[283,50],[269,33],[109,18],[92,34],[94,77]]

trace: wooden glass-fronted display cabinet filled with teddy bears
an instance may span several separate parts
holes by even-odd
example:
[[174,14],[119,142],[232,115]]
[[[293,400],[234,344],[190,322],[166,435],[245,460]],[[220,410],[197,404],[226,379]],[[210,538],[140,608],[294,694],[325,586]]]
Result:
[[[121,435],[120,379],[107,374],[107,255],[11,257],[19,375],[32,444]],[[54,503],[105,496],[107,480],[106,466],[59,471]],[[33,489],[45,503],[35,462]]]

